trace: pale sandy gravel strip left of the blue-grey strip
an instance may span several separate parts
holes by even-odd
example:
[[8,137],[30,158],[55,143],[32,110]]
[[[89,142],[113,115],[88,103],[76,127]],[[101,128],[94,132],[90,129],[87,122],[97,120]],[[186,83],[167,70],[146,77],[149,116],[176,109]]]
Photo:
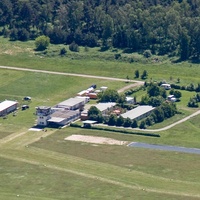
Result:
[[71,135],[66,137],[65,140],[88,142],[93,144],[110,144],[110,145],[127,145],[127,141],[115,140],[112,138],[88,136],[88,135]]

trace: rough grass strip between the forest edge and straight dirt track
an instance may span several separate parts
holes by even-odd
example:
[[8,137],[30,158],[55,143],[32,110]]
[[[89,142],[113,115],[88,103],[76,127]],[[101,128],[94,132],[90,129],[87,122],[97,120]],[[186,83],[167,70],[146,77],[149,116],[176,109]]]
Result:
[[[62,47],[67,49],[67,55],[64,57],[59,56],[59,50]],[[148,78],[156,81],[176,82],[177,78],[180,78],[180,84],[183,85],[199,83],[199,64],[187,62],[172,64],[165,57],[160,57],[158,63],[155,63],[153,59],[148,62],[141,59],[130,63],[115,60],[115,53],[112,51],[99,52],[98,48],[92,48],[85,52],[81,48],[80,53],[73,53],[68,50],[68,46],[63,45],[50,45],[46,54],[38,55],[34,52],[34,48],[34,41],[13,44],[1,37],[0,65],[118,78],[126,78],[128,75],[130,79],[134,78],[134,72],[138,69],[140,74],[143,70],[147,70]],[[123,56],[126,57],[127,54]],[[128,56],[134,58],[135,54]]]

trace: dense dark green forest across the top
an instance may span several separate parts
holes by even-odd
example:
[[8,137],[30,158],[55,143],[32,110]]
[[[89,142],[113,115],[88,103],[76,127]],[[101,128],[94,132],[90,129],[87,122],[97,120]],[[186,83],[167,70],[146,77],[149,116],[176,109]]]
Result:
[[200,59],[199,0],[1,0],[1,35]]

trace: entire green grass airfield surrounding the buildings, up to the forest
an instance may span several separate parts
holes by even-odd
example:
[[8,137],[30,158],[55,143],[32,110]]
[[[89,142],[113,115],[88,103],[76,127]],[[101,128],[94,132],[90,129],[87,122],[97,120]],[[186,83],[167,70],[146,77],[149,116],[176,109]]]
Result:
[[[99,76],[134,77],[134,71],[146,69],[149,79],[176,81],[181,84],[199,82],[199,65],[170,64],[144,60],[138,62],[114,60],[114,53],[98,52],[97,48],[84,48],[78,54],[67,50],[65,57],[58,56],[60,45],[50,46],[47,54],[36,55],[34,42],[8,42],[0,38],[0,65],[73,72]],[[151,144],[168,144],[200,148],[200,116],[159,132],[160,138],[136,136],[97,130],[66,127],[46,128],[33,132],[35,107],[53,106],[91,84],[120,89],[128,83],[92,78],[42,74],[0,69],[0,101],[18,100],[30,109],[17,111],[17,116],[0,118],[0,200],[188,200],[200,199],[199,155],[148,150],[118,145],[94,145],[66,141],[72,134],[92,135],[123,141]],[[140,98],[142,92],[137,94]],[[161,128],[195,112],[186,107],[194,95],[182,92],[176,115],[152,128]],[[24,102],[31,96],[31,102]]]

